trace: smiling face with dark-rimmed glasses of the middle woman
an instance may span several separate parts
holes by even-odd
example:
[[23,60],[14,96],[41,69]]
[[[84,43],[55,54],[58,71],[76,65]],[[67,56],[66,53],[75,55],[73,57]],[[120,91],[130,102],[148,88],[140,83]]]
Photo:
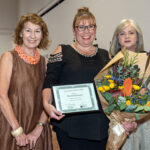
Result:
[[82,47],[93,45],[96,36],[96,27],[93,26],[92,22],[87,19],[81,20],[77,26],[78,28],[73,29],[76,43]]

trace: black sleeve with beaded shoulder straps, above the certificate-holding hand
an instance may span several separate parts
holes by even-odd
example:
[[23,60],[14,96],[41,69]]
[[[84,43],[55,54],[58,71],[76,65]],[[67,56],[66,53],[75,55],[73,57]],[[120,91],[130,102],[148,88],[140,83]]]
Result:
[[44,80],[44,88],[51,88],[52,85],[58,84],[60,72],[63,64],[62,52],[51,54],[48,59],[47,72]]

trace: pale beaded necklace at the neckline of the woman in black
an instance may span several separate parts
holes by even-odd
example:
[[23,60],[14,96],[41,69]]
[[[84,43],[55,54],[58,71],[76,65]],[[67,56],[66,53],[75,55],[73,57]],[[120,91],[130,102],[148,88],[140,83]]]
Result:
[[92,54],[87,54],[87,53],[84,52],[83,50],[79,49],[75,44],[72,44],[72,47],[74,48],[74,50],[75,50],[78,54],[80,54],[80,55],[82,55],[82,56],[84,56],[84,57],[93,57],[93,56],[96,55],[96,53],[97,53],[97,51],[98,51],[98,48],[95,47],[94,52],[93,52]]

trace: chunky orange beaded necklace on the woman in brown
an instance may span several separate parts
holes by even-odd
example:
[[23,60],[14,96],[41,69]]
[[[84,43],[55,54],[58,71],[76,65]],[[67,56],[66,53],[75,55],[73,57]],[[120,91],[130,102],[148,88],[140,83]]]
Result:
[[37,49],[35,50],[35,55],[33,57],[25,54],[20,46],[16,46],[15,51],[18,53],[21,59],[27,61],[29,64],[37,64],[40,60],[40,54]]

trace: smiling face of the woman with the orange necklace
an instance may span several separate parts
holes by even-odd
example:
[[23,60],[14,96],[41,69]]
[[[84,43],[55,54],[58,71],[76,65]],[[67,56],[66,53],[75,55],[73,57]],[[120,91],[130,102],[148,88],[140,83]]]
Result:
[[26,49],[36,49],[42,39],[42,30],[39,25],[26,22],[20,34],[23,39],[22,46]]

